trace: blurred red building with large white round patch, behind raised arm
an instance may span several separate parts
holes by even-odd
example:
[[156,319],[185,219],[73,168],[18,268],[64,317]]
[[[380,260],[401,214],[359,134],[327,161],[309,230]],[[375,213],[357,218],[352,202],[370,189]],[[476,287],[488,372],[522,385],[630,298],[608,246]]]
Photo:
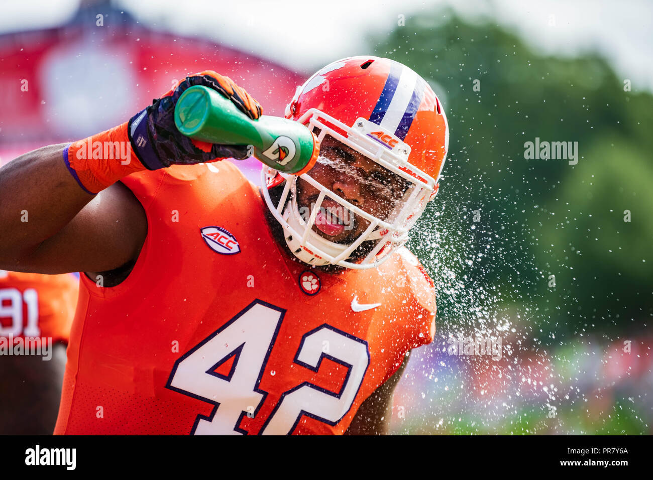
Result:
[[[108,1],[82,2],[56,28],[0,35],[0,164],[118,125],[207,69],[230,76],[276,116],[304,81],[272,61],[142,25]],[[239,165],[258,177],[257,161]]]

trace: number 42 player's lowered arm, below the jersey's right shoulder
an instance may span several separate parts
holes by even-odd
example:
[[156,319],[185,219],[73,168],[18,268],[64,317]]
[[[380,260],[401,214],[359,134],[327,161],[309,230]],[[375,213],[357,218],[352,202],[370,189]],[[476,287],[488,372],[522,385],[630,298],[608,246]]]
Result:
[[385,435],[390,426],[392,415],[392,392],[402,377],[408,364],[408,357],[387,379],[381,387],[377,388],[358,408],[355,417],[349,424],[345,435]]

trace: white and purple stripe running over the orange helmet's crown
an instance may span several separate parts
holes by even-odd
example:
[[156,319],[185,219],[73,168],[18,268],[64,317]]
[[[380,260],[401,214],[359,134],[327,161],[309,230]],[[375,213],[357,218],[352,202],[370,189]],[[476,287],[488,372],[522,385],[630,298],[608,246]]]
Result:
[[404,140],[424,98],[426,82],[401,63],[390,62],[390,73],[370,121]]

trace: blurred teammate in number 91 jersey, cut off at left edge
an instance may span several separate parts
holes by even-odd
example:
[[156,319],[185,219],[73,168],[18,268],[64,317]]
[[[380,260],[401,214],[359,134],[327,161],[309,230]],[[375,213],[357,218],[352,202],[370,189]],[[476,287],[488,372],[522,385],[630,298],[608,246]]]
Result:
[[0,270],[0,434],[52,434],[78,291],[72,274]]

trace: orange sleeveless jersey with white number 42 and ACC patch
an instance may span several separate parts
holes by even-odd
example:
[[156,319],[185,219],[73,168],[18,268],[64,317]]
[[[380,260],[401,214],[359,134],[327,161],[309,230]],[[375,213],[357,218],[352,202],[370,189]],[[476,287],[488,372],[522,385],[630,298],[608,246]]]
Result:
[[342,434],[432,341],[434,289],[406,249],[377,269],[310,268],[227,161],[123,183],[148,234],[118,286],[82,276],[55,434]]

